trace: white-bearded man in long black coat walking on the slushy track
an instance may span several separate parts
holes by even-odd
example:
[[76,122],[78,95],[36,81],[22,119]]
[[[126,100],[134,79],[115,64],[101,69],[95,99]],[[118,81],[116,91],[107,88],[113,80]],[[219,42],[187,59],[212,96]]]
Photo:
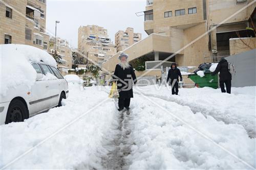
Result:
[[117,79],[117,89],[119,92],[118,107],[119,111],[124,108],[130,109],[130,101],[133,98],[133,82],[136,84],[137,79],[133,66],[127,62],[128,55],[121,53],[118,59],[120,63],[116,65],[114,79]]

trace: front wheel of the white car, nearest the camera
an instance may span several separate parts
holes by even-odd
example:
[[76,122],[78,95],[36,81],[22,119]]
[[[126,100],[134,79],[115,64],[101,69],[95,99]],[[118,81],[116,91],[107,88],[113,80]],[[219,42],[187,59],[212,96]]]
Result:
[[27,108],[20,100],[13,100],[8,108],[5,124],[11,122],[23,122],[25,115],[27,115]]

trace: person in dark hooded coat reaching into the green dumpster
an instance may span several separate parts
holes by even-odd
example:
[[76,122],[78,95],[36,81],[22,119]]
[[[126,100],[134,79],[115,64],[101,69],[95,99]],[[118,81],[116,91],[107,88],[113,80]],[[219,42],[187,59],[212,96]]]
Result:
[[221,61],[218,63],[216,69],[214,72],[212,72],[212,76],[218,74],[218,72],[220,72],[220,87],[221,87],[221,92],[225,93],[225,87],[224,87],[224,83],[226,85],[226,89],[227,89],[227,93],[231,93],[231,79],[232,76],[229,72],[228,69],[228,62],[227,60],[223,57],[221,58]]

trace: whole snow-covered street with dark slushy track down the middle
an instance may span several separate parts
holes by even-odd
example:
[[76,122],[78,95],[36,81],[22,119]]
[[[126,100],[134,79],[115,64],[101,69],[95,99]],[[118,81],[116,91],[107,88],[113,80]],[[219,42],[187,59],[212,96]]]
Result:
[[252,169],[255,87],[232,90],[135,87],[130,111],[119,112],[109,87],[70,83],[64,106],[1,126],[1,166]]

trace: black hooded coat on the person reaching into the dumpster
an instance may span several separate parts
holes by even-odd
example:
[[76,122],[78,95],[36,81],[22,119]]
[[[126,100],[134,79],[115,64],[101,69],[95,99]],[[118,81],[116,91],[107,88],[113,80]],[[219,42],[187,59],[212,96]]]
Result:
[[218,63],[214,72],[212,72],[212,76],[218,74],[220,72],[220,81],[231,80],[231,74],[228,70],[228,62],[226,59],[221,59]]

